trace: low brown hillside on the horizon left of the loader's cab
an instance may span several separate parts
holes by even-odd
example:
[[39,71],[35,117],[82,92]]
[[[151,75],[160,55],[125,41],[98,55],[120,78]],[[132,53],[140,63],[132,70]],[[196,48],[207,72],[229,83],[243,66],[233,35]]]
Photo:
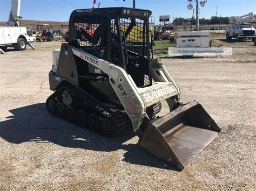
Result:
[[[7,22],[0,22],[0,26],[6,26]],[[50,30],[61,29],[62,25],[68,25],[68,22],[54,22],[54,21],[38,21],[38,20],[22,20],[21,26],[32,26],[33,31],[36,31],[37,24],[49,24]]]

